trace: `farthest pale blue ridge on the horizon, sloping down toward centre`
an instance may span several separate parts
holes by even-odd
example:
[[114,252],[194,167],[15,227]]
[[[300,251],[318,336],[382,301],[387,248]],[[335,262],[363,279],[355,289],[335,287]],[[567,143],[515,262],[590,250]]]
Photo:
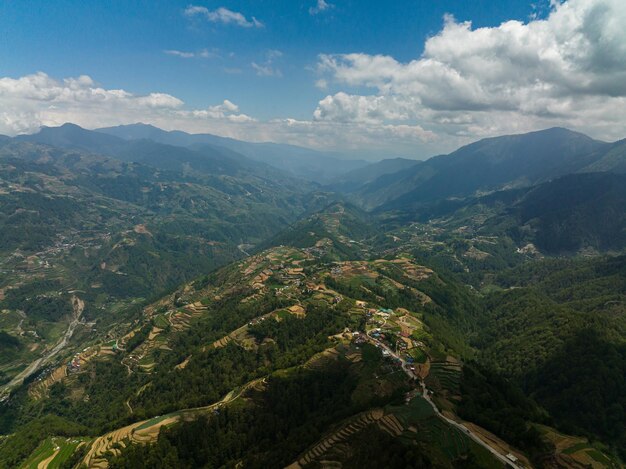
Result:
[[98,129],[98,132],[123,139],[150,139],[169,145],[195,147],[220,146],[254,160],[270,164],[293,175],[316,182],[328,182],[333,177],[367,165],[363,160],[342,158],[341,155],[278,143],[243,142],[211,134],[188,134],[165,131],[146,124],[131,124]]

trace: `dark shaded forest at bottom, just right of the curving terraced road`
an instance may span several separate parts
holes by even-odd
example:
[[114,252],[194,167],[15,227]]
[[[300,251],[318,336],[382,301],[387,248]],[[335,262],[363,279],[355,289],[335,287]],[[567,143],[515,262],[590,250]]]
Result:
[[164,430],[153,445],[132,445],[112,468],[284,467],[327,426],[360,408],[351,401],[355,376],[341,365],[298,368],[272,376],[252,405],[226,407],[208,418]]

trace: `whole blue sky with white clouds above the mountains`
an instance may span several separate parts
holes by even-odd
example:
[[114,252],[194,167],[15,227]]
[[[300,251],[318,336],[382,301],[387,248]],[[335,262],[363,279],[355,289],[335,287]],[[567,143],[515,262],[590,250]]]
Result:
[[0,0],[0,133],[145,122],[423,159],[626,137],[624,0]]

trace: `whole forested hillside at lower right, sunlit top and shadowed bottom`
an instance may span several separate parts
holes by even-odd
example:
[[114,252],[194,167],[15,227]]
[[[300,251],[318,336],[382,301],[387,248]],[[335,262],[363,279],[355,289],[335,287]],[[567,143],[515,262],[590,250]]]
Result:
[[[565,432],[625,453],[626,258],[547,259],[499,273],[474,345]],[[511,288],[515,287],[515,288]]]

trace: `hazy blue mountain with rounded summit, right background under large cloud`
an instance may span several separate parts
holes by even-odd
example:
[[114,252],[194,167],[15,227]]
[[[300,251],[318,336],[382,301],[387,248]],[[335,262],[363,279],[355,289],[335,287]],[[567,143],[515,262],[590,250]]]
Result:
[[355,200],[363,198],[366,203],[382,203],[383,209],[395,209],[528,186],[577,172],[609,148],[610,144],[561,128],[484,139],[374,181],[361,188]]

